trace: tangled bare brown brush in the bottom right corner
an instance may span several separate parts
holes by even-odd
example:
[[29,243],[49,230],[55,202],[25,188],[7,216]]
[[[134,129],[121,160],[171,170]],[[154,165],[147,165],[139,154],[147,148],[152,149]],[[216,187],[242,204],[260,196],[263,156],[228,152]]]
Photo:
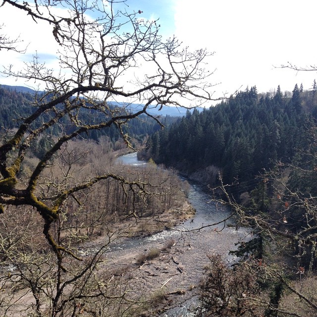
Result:
[[200,287],[199,316],[316,316],[314,277],[304,281],[301,272],[292,279],[292,271],[282,263],[249,258],[228,267],[219,256],[209,259]]

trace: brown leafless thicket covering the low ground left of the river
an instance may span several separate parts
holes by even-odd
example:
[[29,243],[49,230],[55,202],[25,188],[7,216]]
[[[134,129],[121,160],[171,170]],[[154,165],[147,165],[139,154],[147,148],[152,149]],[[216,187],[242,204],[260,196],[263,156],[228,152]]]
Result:
[[[130,182],[124,185],[105,179],[94,188],[84,189],[64,201],[63,209],[52,226],[54,241],[65,248],[60,266],[52,265],[56,259],[41,230],[44,220],[32,207],[8,207],[1,215],[1,315],[19,312],[18,315],[22,316],[22,311],[26,315],[31,312],[47,314],[54,305],[55,314],[67,316],[81,311],[92,312],[97,302],[99,307],[102,301],[103,316],[121,316],[122,310],[131,306],[129,301],[137,300],[130,298],[126,301],[128,295],[124,289],[129,285],[129,278],[122,281],[117,277],[111,279],[118,273],[107,273],[108,269],[102,268],[106,261],[106,246],[119,237],[162,230],[164,218],[173,218],[175,223],[178,212],[180,215],[188,212],[183,210],[182,184],[172,173],[154,166],[134,168],[116,163],[112,153],[103,153],[102,149],[102,144],[68,142],[38,182],[39,190],[47,197],[83,182],[93,171],[105,173],[111,170]],[[35,158],[24,162],[22,179],[23,174],[27,174],[37,162]],[[143,195],[132,195],[134,182],[148,184]],[[102,244],[95,243],[93,248],[94,241],[102,241]],[[85,244],[89,248],[85,248]],[[83,253],[82,250],[88,249],[89,253]],[[147,259],[158,254],[159,250],[157,253],[153,250]],[[95,271],[98,271],[97,279]],[[60,286],[59,280],[63,281]],[[57,293],[54,291],[56,284]],[[91,292],[96,294],[94,298],[90,298]],[[67,302],[63,299],[66,294]],[[121,308],[114,314],[117,306]],[[106,313],[108,309],[112,315]]]

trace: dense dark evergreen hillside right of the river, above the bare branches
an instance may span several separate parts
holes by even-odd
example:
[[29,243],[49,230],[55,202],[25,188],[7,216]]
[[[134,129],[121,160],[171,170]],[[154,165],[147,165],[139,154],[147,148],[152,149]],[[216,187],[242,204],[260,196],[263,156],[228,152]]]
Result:
[[145,156],[208,183],[221,171],[225,183],[248,189],[264,168],[290,162],[308,148],[316,89],[316,84],[309,91],[296,85],[292,93],[282,93],[278,87],[265,95],[252,87],[202,112],[188,112],[150,138]]

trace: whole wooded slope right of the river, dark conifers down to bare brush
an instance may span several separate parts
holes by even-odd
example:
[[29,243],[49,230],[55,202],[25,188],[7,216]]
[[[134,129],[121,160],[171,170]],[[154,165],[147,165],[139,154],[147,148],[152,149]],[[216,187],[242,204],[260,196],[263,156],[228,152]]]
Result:
[[316,116],[316,82],[291,93],[252,87],[149,139],[145,157],[211,184],[211,200],[230,208],[236,229],[252,230],[231,252],[234,269],[210,256],[207,316],[316,316]]

